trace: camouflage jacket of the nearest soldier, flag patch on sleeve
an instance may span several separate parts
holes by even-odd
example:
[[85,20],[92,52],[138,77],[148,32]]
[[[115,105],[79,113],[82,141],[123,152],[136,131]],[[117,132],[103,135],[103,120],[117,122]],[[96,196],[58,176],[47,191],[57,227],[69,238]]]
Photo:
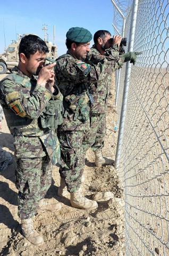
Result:
[[42,127],[40,120],[51,97],[45,87],[37,85],[35,77],[29,78],[17,67],[0,82],[0,102],[15,137],[16,158],[43,157],[46,155],[44,147],[56,149],[56,136]]

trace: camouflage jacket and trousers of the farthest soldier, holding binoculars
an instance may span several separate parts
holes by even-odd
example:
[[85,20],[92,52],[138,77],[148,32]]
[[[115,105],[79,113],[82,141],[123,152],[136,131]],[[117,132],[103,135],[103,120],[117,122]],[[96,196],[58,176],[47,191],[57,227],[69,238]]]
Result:
[[[101,60],[112,62],[119,58],[119,50],[117,46],[111,47],[105,51],[105,55],[100,54],[96,46],[92,46],[87,55],[86,62],[90,65],[96,64]],[[122,61],[119,65],[112,67],[108,76],[103,74],[101,82],[92,83],[90,93],[95,102],[90,105],[90,130],[86,133],[83,141],[83,149],[86,151],[91,147],[92,151],[100,150],[104,147],[104,137],[106,134],[106,109],[108,102],[109,86],[112,83],[113,72],[122,67]]]

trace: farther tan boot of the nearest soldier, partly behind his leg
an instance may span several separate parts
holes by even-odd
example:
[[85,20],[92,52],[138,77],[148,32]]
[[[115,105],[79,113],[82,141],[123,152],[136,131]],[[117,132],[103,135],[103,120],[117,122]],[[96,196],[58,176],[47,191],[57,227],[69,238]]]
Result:
[[42,199],[39,202],[37,212],[57,212],[61,210],[62,205],[56,201],[56,199]]

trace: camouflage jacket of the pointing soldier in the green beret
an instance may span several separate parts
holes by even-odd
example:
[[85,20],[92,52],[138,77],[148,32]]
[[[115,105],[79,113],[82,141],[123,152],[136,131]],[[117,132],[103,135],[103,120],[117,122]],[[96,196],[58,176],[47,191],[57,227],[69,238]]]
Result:
[[[74,59],[69,51],[57,59],[55,77],[57,86],[63,94],[63,106],[65,110],[65,118],[63,118],[62,125],[63,130],[83,130],[82,123],[87,121],[89,117],[89,106],[86,105],[86,113],[88,113],[86,114],[86,120],[74,118],[72,107],[70,108],[66,105],[67,99],[72,99],[72,95],[74,94],[80,97],[80,95],[86,92],[86,95],[88,95],[89,84],[96,82],[103,83],[105,77],[109,76],[109,73],[112,73],[112,69],[119,68],[121,65],[122,62],[119,57],[111,58],[111,61],[109,61],[109,59],[103,58],[103,56],[99,61],[97,60],[92,65],[89,65],[86,62]],[[89,98],[87,97],[84,102],[86,103],[88,101]],[[79,110],[80,112],[81,110]]]

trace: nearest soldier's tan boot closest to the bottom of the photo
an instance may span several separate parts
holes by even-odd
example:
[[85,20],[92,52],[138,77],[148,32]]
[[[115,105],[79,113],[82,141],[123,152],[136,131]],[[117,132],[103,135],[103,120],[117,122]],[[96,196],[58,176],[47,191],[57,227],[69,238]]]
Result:
[[41,237],[37,231],[33,228],[32,219],[24,219],[21,223],[22,233],[27,240],[36,246],[40,246],[44,243],[43,237]]

